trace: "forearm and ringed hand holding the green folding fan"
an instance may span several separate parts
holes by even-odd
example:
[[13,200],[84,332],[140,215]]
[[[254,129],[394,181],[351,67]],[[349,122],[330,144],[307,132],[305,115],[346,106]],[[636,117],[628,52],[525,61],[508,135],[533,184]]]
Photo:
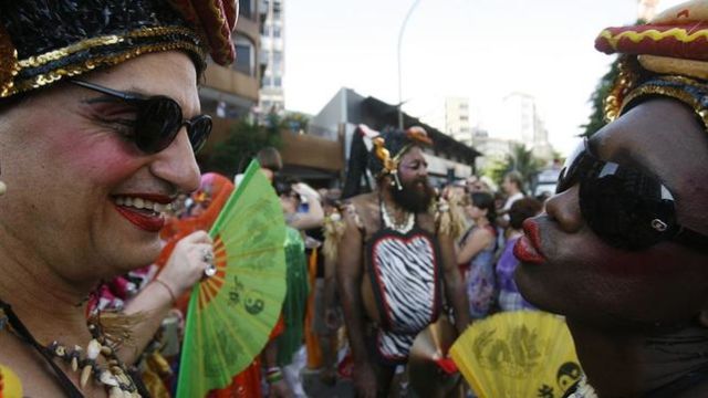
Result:
[[142,320],[133,328],[132,344],[119,352],[125,363],[138,358],[177,298],[207,274],[212,259],[211,238],[205,231],[192,232],[175,245],[163,271],[125,306],[126,315],[139,314]]

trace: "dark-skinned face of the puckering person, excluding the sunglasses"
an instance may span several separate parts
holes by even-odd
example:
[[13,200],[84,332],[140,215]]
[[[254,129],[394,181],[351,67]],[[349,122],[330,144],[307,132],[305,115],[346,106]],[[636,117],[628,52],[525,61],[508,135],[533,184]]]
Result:
[[[658,177],[676,199],[678,222],[708,233],[708,133],[688,107],[645,102],[593,136],[590,147],[601,159]],[[673,242],[643,251],[607,245],[583,220],[579,185],[545,207],[525,226],[544,260],[522,263],[516,274],[531,303],[583,322],[638,327],[689,322],[708,306],[706,254]]]

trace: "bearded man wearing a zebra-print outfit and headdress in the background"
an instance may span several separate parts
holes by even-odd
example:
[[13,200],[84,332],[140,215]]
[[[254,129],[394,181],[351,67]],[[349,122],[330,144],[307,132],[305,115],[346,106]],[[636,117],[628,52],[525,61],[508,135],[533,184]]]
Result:
[[[469,323],[452,212],[437,205],[428,182],[421,148],[431,144],[420,127],[379,134],[360,126],[355,134],[336,276],[361,397],[388,395],[396,366],[445,303],[460,332]],[[367,172],[376,188],[352,197]]]

